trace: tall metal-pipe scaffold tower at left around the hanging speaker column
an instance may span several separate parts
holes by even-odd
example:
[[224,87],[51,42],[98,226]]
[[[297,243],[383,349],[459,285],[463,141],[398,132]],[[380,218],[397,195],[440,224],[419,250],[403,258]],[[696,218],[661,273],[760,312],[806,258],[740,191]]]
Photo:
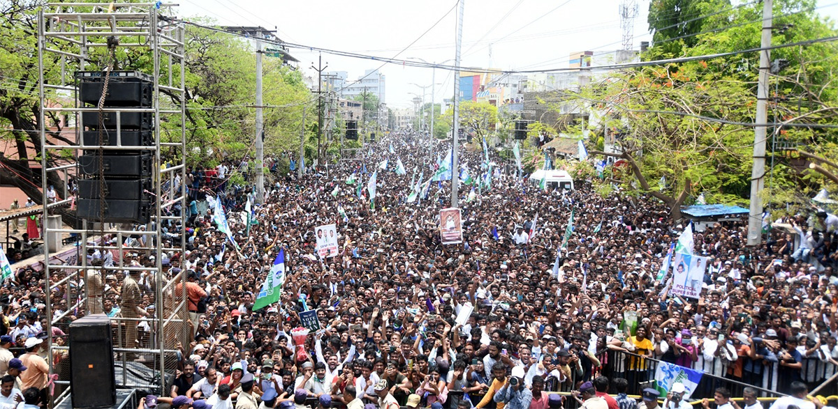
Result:
[[[111,318],[111,325],[117,388],[138,388],[158,395],[168,395],[164,391],[173,381],[178,343],[189,345],[190,335],[185,272],[170,268],[168,263],[184,258],[184,221],[189,208],[185,184],[184,25],[168,18],[173,16],[172,6],[48,3],[38,15],[45,259],[67,252],[60,248],[60,239],[49,238],[80,237],[75,257],[62,260],[60,265],[44,263],[45,282],[49,285],[45,291],[45,314],[52,317],[44,330],[52,334],[57,326],[68,333],[71,320],[86,314],[108,313],[103,311],[103,303],[110,304],[110,297],[116,292],[116,306],[121,314]],[[54,74],[58,69],[61,74]],[[67,80],[65,73],[73,71],[77,72],[75,79]],[[85,75],[102,78],[105,84],[100,95],[108,95],[108,81],[113,84],[119,75],[142,77],[153,82],[150,103],[143,108],[127,108],[104,107],[100,101],[96,107],[85,107],[80,99],[80,81]],[[147,143],[132,144],[131,138],[126,139],[127,118],[137,114],[151,115],[148,129],[152,137]],[[91,144],[90,139],[85,141],[85,126],[91,125],[90,118],[96,115],[100,136],[98,143]],[[115,124],[116,142],[103,142],[103,117]],[[65,122],[65,130],[75,130],[70,135],[55,135],[50,130],[55,118]],[[50,180],[59,181],[59,171],[69,169],[70,178],[75,181],[92,180],[96,186],[104,186],[90,172],[85,176],[79,158],[82,154],[99,155],[101,169],[103,155],[126,151],[151,156],[151,182],[141,193],[150,203],[147,222],[114,223],[104,216],[85,218],[78,213],[75,216],[80,222],[70,228],[62,227],[60,216],[52,214],[54,208],[46,206]],[[57,156],[72,159],[69,165],[57,166]],[[110,192],[100,189],[99,206],[104,209],[108,205],[103,197]],[[72,202],[75,198],[65,197],[63,201]],[[73,211],[71,208],[70,213]],[[126,291],[115,291],[120,283],[125,285],[121,280],[129,275],[137,277],[141,290],[142,297],[137,302],[128,299]],[[58,375],[55,383],[59,389],[54,401],[60,401],[70,391],[72,382],[79,380],[70,379],[68,360],[54,359],[67,355],[71,346],[54,342],[52,337],[47,340],[50,376]]]

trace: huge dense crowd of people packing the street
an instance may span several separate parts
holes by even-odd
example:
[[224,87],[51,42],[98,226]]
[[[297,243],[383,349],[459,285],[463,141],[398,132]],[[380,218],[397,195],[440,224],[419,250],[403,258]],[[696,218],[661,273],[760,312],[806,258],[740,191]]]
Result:
[[[460,183],[463,243],[443,244],[440,211],[449,207],[451,183],[416,181],[444,173],[440,158],[450,149],[445,141],[401,133],[365,147],[363,157],[307,169],[302,178],[271,166],[264,203],[253,207],[250,223],[240,213],[248,198],[255,202],[252,187],[224,178],[204,185],[205,173],[192,171],[189,222],[182,230],[169,225],[162,238],[178,243],[185,234],[184,253],[91,248],[92,265],[152,265],[162,258],[168,278],[188,278],[194,336],[180,346],[171,389],[141,406],[654,409],[660,398],[667,409],[681,408],[685,402],[673,398],[682,384],[665,396],[651,389],[659,362],[703,373],[687,396],[715,396],[721,409],[729,409],[732,394],[753,397],[742,407],[758,409],[756,396],[770,396],[766,390],[798,396],[797,409],[823,406],[800,393],[838,372],[838,274],[818,263],[816,252],[797,251],[806,245],[794,236],[774,229],[766,243],[747,248],[742,221],[696,232],[694,252],[710,261],[700,297],[685,298],[656,279],[688,226],[672,221],[662,203],[618,192],[603,197],[584,180],[573,190],[542,189],[478,146],[461,148],[466,170],[451,172],[476,181]],[[229,165],[216,175],[229,179],[246,168]],[[211,207],[199,211],[207,193],[225,209],[231,237],[213,224]],[[332,223],[339,254],[320,258],[316,228]],[[828,241],[827,225],[817,214],[794,218],[804,238],[823,232]],[[281,298],[254,310],[280,251]],[[68,310],[71,285],[85,290],[84,308]],[[3,284],[0,330],[9,347],[25,347],[26,355],[37,356],[35,340],[46,338],[43,286],[31,268]],[[144,319],[155,314],[155,283],[138,271],[90,270],[59,286],[53,299],[60,300],[53,311],[64,323],[88,313]],[[295,345],[292,330],[310,310],[320,327]],[[135,322],[120,342],[150,345],[153,326]],[[53,335],[63,340],[63,333]],[[0,370],[8,363],[5,371],[14,376],[18,358],[2,353]],[[38,367],[26,355],[18,374]],[[819,393],[835,393],[833,381]],[[25,398],[28,388],[46,391],[46,383],[28,378],[10,393],[23,391]]]

